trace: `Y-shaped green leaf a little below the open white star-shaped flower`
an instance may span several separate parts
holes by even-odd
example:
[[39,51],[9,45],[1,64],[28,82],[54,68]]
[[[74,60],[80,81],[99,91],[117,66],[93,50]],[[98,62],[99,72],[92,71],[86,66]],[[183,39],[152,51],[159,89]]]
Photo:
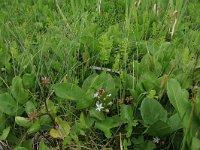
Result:
[[120,126],[122,123],[120,117],[118,116],[113,116],[113,117],[108,117],[103,121],[98,121],[95,123],[95,128],[101,130],[104,132],[105,136],[107,138],[112,137],[111,129]]

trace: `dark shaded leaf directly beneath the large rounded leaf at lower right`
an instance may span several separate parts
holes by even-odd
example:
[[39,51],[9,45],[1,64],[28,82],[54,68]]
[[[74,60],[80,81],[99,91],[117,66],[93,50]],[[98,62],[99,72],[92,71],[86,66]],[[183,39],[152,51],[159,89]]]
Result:
[[160,120],[152,124],[147,129],[147,133],[151,136],[165,136],[171,132],[172,131],[170,126],[167,123]]

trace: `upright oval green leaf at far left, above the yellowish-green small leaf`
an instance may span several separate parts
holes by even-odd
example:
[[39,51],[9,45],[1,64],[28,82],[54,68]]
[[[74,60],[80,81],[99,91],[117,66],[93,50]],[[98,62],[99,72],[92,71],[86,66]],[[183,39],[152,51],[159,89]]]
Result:
[[24,89],[22,79],[20,77],[15,77],[12,81],[11,86],[12,96],[20,104],[24,104],[28,100],[28,92]]

